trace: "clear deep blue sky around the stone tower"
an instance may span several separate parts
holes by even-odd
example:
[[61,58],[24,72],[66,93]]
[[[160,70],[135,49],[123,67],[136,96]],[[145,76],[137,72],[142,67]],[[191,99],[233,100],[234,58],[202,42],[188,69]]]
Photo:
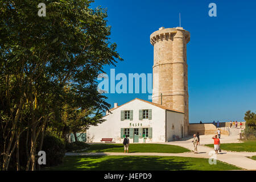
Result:
[[[210,17],[209,3],[217,17]],[[96,0],[108,9],[111,41],[124,61],[104,71],[115,74],[152,73],[150,34],[159,27],[179,26],[191,33],[187,44],[189,122],[243,121],[256,110],[256,1],[121,1]],[[116,81],[117,83],[118,81]],[[124,104],[147,94],[105,94],[108,102]],[[148,100],[151,101],[151,100]]]

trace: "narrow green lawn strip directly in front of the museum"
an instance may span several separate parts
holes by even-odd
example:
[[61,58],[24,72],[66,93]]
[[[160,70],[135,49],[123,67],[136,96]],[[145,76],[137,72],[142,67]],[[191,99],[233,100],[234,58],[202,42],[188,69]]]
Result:
[[[91,144],[88,150],[82,152],[123,152],[123,144]],[[129,152],[157,152],[157,153],[182,153],[189,152],[187,148],[170,144],[140,143],[130,144]]]

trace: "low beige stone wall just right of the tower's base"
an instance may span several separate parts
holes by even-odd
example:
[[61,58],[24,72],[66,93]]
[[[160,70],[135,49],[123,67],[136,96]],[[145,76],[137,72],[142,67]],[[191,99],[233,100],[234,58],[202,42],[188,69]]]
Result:
[[[189,124],[189,135],[196,134],[197,132],[199,132],[200,135],[214,135],[217,134],[217,128],[210,123]],[[229,135],[229,132],[221,129],[221,134]]]

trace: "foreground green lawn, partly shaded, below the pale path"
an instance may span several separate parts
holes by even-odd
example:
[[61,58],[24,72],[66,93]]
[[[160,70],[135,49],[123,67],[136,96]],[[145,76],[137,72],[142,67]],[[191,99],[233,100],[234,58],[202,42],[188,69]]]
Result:
[[44,170],[110,170],[110,171],[157,171],[157,170],[236,170],[241,169],[217,160],[210,165],[208,159],[177,156],[65,156],[64,163]]

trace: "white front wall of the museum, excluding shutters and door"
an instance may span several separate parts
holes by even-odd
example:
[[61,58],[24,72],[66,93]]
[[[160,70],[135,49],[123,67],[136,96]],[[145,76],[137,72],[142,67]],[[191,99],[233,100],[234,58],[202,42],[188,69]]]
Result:
[[[152,119],[139,120],[140,109],[152,109]],[[121,110],[133,110],[133,121],[121,121]],[[123,106],[118,107],[117,109],[114,109],[112,113],[113,114],[106,115],[104,117],[106,121],[100,125],[90,126],[90,128],[86,131],[88,142],[100,142],[102,138],[113,138],[114,142],[122,143],[123,139],[121,139],[121,128],[139,127],[152,127],[152,139],[146,139],[146,143],[165,142],[166,114],[164,109],[141,100],[133,100]],[[135,124],[137,124],[137,126],[135,126]],[[139,143],[142,142],[143,138],[139,138]],[[133,139],[130,139],[130,143],[133,143]]]

